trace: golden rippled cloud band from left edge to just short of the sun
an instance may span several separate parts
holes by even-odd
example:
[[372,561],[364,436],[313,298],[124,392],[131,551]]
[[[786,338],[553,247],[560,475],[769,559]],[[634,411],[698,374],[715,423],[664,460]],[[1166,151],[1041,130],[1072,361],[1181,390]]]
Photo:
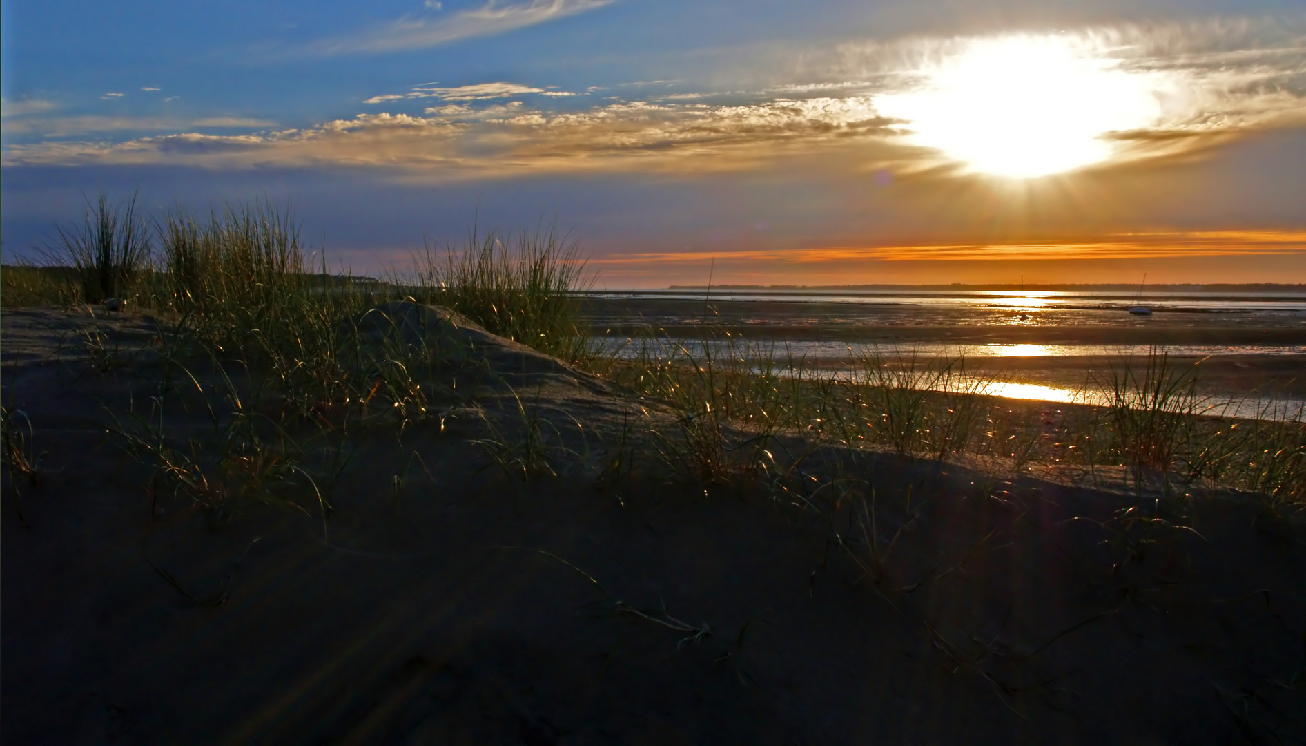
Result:
[[396,169],[426,180],[669,169],[687,159],[699,169],[735,170],[781,152],[811,152],[838,141],[866,142],[884,136],[889,127],[876,116],[868,98],[738,106],[618,102],[562,114],[520,102],[474,103],[485,99],[431,107],[426,116],[360,114],[308,129],[236,138],[183,133],[121,144],[25,144],[7,148],[4,162],[56,163],[73,158],[81,163],[212,167],[337,163]]

